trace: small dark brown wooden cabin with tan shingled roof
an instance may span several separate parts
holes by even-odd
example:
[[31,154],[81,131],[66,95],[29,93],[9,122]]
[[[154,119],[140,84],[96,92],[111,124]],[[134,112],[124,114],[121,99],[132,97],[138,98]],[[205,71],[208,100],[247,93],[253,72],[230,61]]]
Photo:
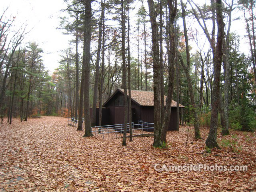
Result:
[[[128,94],[128,90],[127,90]],[[127,95],[128,98],[128,95]],[[154,123],[154,92],[131,90],[132,100],[132,122],[138,120]],[[166,96],[165,96],[166,99]],[[124,123],[124,90],[117,89],[110,98],[103,104],[108,109],[108,123]],[[180,107],[184,107],[180,104]],[[168,130],[174,130],[176,126],[176,102],[172,100],[172,111]]]

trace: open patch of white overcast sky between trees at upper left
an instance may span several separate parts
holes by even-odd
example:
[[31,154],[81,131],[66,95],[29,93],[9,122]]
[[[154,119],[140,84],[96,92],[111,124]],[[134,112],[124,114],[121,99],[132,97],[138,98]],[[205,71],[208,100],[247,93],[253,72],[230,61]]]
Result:
[[[1,0],[0,13],[8,8],[8,15],[16,16],[15,24],[27,24],[25,42],[35,41],[44,50],[43,60],[51,72],[58,67],[60,50],[68,48],[70,36],[57,29],[61,9],[66,8],[63,0]],[[6,15],[7,15],[6,14]]]

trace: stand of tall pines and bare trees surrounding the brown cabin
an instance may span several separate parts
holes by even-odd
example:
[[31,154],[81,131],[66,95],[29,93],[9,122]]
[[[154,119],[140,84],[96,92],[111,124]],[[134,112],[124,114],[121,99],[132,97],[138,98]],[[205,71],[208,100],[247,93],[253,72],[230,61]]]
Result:
[[[53,73],[44,67],[40,45],[23,42],[26,27],[17,30],[12,25],[15,17],[2,13],[2,120],[6,116],[11,124],[13,117],[22,122],[29,116],[66,115],[79,117],[77,129],[82,130],[84,116],[84,136],[93,136],[96,108],[101,109],[117,88],[124,88],[127,95],[131,89],[154,91],[156,147],[166,143],[172,99],[186,106],[177,110],[176,130],[180,124],[191,124],[194,138],[200,139],[200,128],[210,128],[207,148],[220,148],[217,127],[222,135],[230,128],[255,130],[254,0],[65,2],[67,16],[60,28],[73,39]],[[245,34],[232,30],[237,20]],[[248,54],[241,52],[241,40]],[[130,96],[124,97],[125,129],[131,121],[130,103]]]

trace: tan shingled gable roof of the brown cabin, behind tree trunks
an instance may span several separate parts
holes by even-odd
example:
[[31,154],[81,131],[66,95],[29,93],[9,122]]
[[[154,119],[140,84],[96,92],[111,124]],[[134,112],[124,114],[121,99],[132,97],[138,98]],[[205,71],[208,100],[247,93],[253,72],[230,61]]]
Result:
[[[116,92],[118,90],[124,94],[124,89],[117,89]],[[127,90],[127,95],[128,95],[128,90]],[[112,96],[110,98],[112,98]],[[131,98],[141,106],[154,106],[153,91],[131,90]],[[164,96],[164,103],[165,103],[165,100],[166,100],[166,96]],[[177,105],[176,101],[172,100],[172,107],[176,107],[176,105]],[[184,107],[184,106],[180,104],[180,107]]]

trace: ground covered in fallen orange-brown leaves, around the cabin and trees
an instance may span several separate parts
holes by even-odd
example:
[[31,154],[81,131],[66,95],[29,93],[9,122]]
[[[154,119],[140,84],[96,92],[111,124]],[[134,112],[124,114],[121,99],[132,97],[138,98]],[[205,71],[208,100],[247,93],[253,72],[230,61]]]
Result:
[[[168,132],[167,149],[153,137],[122,146],[111,136],[83,138],[67,118],[14,119],[0,125],[0,192],[5,191],[256,191],[256,133],[218,133],[221,150],[204,152],[208,129]],[[128,139],[127,139],[128,140]],[[172,165],[246,165],[247,171],[158,171]],[[207,167],[206,167],[207,168]]]

